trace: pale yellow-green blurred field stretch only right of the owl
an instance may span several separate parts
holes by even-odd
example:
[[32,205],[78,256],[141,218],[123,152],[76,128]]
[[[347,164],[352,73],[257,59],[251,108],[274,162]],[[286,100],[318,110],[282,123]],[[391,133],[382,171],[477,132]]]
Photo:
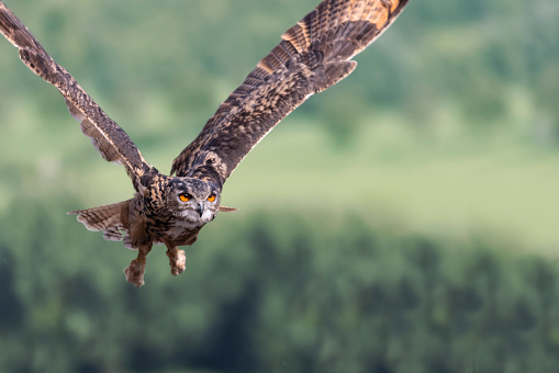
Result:
[[236,171],[227,200],[248,208],[348,210],[403,229],[496,234],[548,253],[558,248],[559,152],[494,134],[427,146],[401,123],[379,118],[384,123],[364,131],[351,150],[332,150],[316,131],[278,134]]

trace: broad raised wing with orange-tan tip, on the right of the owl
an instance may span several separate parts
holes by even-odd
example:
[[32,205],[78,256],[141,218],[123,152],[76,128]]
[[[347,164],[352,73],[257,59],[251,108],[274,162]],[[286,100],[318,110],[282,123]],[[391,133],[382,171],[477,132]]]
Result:
[[351,57],[371,44],[407,0],[325,0],[289,29],[200,135],[171,173],[222,185],[243,158],[310,95],[348,76]]

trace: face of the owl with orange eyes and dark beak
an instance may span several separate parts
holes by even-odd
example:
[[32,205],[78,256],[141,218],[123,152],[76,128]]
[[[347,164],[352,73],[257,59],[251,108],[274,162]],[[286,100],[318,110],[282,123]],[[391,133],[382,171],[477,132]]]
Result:
[[220,208],[220,191],[200,179],[174,178],[167,194],[167,206],[181,221],[203,225],[211,222]]

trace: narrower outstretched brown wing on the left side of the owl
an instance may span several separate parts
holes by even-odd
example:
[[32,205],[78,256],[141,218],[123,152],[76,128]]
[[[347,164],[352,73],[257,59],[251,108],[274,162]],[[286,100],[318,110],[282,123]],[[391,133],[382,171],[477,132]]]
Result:
[[37,76],[55,86],[66,99],[71,115],[91,138],[101,156],[124,165],[138,190],[142,176],[152,167],[144,160],[128,135],[83,91],[74,77],[58,65],[20,20],[0,1],[0,32],[20,52],[21,60]]

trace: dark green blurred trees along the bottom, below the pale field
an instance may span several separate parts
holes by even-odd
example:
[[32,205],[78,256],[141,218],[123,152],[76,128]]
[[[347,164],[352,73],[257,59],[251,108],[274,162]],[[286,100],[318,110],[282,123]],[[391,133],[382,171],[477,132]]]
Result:
[[559,363],[559,268],[489,241],[400,236],[357,216],[335,225],[224,215],[188,249],[178,278],[155,248],[137,290],[122,274],[132,252],[51,204],[16,205],[0,226],[2,371],[552,372]]

